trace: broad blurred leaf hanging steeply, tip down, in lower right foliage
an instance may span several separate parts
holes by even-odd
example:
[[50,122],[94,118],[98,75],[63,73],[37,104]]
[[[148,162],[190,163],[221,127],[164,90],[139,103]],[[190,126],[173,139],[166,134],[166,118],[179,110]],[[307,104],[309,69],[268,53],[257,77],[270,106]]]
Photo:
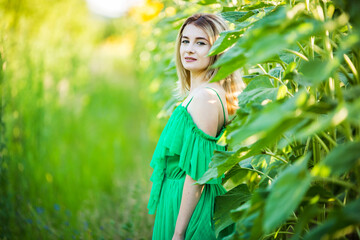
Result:
[[308,159],[309,156],[304,156],[297,160],[281,172],[270,186],[263,219],[265,232],[272,231],[284,222],[303,199],[311,183],[311,175],[307,170]]

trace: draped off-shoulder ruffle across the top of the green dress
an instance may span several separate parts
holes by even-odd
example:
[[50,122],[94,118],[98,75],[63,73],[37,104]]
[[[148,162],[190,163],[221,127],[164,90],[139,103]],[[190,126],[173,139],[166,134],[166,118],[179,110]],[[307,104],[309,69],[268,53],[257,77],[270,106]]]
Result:
[[[155,148],[150,166],[154,169],[150,180],[153,182],[148,203],[149,214],[155,214],[165,177],[166,157],[178,155],[179,167],[194,180],[199,180],[208,170],[214,150],[225,151],[225,146],[217,144],[224,133],[210,136],[199,129],[186,108],[179,105],[172,113]],[[221,177],[207,184],[221,184]]]

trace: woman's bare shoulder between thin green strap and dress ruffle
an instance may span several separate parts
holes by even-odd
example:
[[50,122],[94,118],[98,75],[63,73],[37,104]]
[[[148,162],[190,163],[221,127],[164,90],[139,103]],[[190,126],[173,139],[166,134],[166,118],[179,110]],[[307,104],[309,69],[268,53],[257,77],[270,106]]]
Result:
[[199,89],[194,94],[188,111],[198,128],[216,136],[219,128],[219,108],[216,93],[208,88]]

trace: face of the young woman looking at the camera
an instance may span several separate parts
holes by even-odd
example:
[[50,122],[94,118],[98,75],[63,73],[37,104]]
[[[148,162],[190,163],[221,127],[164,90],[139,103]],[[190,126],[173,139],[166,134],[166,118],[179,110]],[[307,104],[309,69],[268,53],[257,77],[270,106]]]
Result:
[[186,70],[199,73],[207,69],[210,57],[207,56],[211,45],[209,37],[193,24],[185,26],[180,44],[181,63]]

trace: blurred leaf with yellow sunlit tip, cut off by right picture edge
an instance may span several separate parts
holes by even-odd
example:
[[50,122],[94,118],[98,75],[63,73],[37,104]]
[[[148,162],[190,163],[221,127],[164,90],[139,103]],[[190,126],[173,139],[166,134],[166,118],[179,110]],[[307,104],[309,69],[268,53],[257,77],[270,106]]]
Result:
[[334,148],[316,165],[312,174],[322,177],[340,176],[360,160],[360,142],[348,142]]

